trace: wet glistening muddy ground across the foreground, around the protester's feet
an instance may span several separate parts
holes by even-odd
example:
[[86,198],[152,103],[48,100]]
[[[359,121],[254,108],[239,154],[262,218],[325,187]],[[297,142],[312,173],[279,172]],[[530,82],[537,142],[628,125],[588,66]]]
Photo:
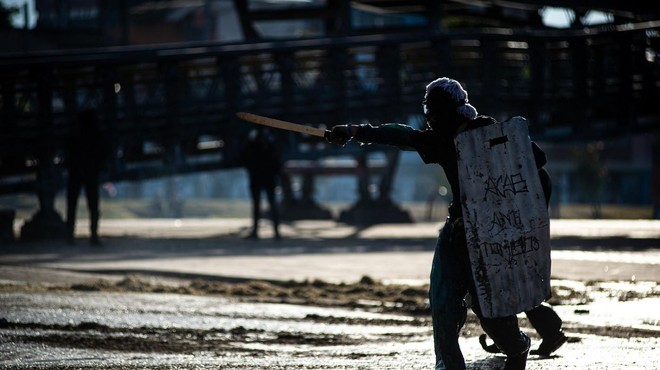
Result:
[[[427,287],[141,276],[0,285],[2,369],[432,369]],[[660,286],[553,281],[569,343],[528,369],[660,368]],[[524,317],[521,325],[538,345]],[[501,367],[470,314],[469,369]]]

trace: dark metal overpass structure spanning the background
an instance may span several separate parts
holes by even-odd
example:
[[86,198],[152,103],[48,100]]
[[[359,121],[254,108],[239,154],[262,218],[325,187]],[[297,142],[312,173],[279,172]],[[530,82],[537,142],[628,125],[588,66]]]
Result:
[[[346,16],[339,11],[342,1],[304,14],[250,11],[241,8],[246,1],[235,3],[250,36],[245,42],[1,55],[0,194],[34,192],[42,210],[52,210],[66,174],[73,117],[89,108],[98,111],[107,138],[110,181],[241,166],[240,148],[254,126],[239,122],[238,111],[318,127],[346,122],[421,127],[424,87],[440,76],[461,81],[482,114],[526,117],[535,140],[660,131],[660,17],[564,30],[448,29],[433,25],[453,14],[452,8],[432,1],[358,2],[383,11],[414,4],[429,19],[422,26],[374,31],[338,29],[343,23],[337,17]],[[519,3],[538,10],[541,3],[568,2]],[[659,13],[641,6],[624,10]],[[326,23],[325,37],[274,40],[250,31],[259,19],[291,14],[334,22]],[[336,148],[312,137],[275,134],[288,160],[349,155],[364,169],[369,152],[385,152],[390,165],[380,194],[387,198],[397,159],[388,148]],[[364,186],[361,195],[368,196]]]

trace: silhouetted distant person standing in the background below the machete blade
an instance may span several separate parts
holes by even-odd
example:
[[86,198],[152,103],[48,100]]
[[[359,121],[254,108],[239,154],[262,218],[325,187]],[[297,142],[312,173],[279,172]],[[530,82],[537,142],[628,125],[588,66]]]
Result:
[[275,201],[275,187],[279,181],[282,163],[279,151],[273,139],[261,129],[253,131],[244,153],[245,167],[250,178],[252,197],[252,232],[249,238],[259,238],[259,219],[261,218],[261,192],[266,192],[275,239],[280,239],[279,211]]

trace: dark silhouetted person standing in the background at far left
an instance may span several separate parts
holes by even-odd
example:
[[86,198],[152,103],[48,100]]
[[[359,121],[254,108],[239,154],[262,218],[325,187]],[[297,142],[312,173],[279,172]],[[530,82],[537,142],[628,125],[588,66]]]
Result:
[[76,210],[81,188],[85,188],[89,210],[90,242],[100,245],[99,226],[99,177],[105,167],[103,134],[98,125],[95,110],[80,112],[75,121],[68,147],[69,180],[67,184],[66,226],[67,240],[74,242]]

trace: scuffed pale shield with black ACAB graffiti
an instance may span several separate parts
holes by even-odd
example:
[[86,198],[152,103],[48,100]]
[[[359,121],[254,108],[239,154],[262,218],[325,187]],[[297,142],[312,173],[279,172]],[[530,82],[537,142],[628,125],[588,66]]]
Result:
[[529,310],[550,296],[550,220],[527,121],[456,139],[463,223],[485,317]]

